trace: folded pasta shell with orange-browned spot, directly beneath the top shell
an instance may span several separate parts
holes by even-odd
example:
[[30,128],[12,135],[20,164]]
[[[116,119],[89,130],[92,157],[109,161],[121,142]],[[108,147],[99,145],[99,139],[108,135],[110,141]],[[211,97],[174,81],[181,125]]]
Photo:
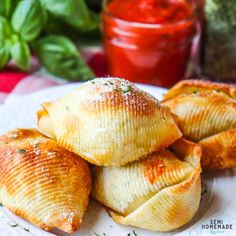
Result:
[[122,167],[94,167],[92,196],[118,223],[152,231],[186,224],[199,207],[201,147],[180,139]]

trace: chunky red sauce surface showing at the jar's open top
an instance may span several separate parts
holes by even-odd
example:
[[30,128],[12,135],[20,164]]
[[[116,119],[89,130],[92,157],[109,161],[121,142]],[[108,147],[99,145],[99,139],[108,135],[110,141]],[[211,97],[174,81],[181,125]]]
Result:
[[130,22],[178,23],[192,15],[192,9],[179,0],[113,0],[108,4],[113,16]]

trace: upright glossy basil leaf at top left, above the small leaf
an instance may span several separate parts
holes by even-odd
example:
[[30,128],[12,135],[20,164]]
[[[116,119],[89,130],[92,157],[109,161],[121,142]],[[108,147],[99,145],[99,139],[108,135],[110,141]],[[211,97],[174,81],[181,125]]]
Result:
[[23,0],[13,13],[11,24],[25,41],[32,41],[42,31],[46,12],[38,0]]

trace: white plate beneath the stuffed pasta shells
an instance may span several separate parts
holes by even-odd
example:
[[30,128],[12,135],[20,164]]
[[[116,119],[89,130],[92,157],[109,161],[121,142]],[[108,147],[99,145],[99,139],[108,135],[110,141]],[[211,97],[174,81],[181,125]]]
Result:
[[[53,87],[22,97],[11,98],[1,111],[0,133],[17,127],[36,127],[36,111],[42,102],[55,100],[72,91],[77,84]],[[138,85],[158,99],[165,89]],[[204,172],[202,174],[202,200],[194,219],[186,226],[171,233],[158,233],[125,227],[116,224],[102,206],[91,200],[83,219],[82,227],[73,236],[160,236],[160,235],[236,235],[236,169]],[[32,209],[33,211],[33,209]],[[204,229],[210,227],[212,220],[219,220],[221,227],[232,224],[233,229]],[[222,222],[223,221],[223,222]],[[17,224],[17,226],[16,226]],[[217,225],[217,227],[219,227]],[[16,226],[16,227],[11,227]],[[25,228],[25,229],[24,229]],[[29,229],[29,232],[28,232]],[[57,230],[45,232],[32,224],[14,216],[0,207],[0,235],[68,235]]]

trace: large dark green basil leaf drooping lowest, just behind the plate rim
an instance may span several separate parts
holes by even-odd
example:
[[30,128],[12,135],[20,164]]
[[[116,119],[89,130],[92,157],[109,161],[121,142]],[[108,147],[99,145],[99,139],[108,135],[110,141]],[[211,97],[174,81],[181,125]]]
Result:
[[75,45],[63,36],[47,36],[33,44],[40,62],[53,75],[69,80],[88,80],[94,74]]

